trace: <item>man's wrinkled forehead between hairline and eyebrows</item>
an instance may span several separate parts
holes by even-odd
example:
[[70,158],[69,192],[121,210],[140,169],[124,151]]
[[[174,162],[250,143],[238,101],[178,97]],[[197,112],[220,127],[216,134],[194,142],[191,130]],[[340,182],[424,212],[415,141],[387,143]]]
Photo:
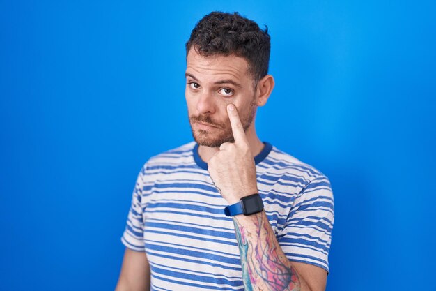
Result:
[[187,55],[186,73],[196,77],[225,77],[240,81],[250,80],[248,63],[234,54],[204,57],[193,48]]

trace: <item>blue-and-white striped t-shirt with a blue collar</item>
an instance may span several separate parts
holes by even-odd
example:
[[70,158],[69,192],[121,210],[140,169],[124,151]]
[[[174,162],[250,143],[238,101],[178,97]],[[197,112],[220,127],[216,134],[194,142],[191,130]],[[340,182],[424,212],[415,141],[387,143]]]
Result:
[[[258,191],[290,261],[329,270],[329,180],[271,144],[255,157]],[[150,158],[138,175],[121,240],[145,251],[151,290],[244,290],[233,219],[190,142]]]

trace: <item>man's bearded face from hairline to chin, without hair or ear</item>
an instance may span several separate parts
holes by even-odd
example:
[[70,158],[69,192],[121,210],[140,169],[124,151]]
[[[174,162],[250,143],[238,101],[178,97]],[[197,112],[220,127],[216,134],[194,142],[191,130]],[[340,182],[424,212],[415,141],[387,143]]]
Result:
[[247,131],[254,126],[256,95],[253,79],[241,57],[202,57],[192,48],[187,55],[186,91],[194,140],[205,147],[233,142],[226,105],[233,103]]

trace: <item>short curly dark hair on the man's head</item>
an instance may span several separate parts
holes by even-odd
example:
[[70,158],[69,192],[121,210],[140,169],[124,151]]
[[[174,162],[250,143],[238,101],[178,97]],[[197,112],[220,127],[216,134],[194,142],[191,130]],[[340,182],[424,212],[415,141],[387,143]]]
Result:
[[194,47],[198,54],[208,57],[214,54],[235,54],[248,63],[248,73],[254,86],[268,73],[270,62],[270,35],[268,27],[259,28],[253,20],[233,14],[212,12],[205,15],[194,27],[186,43],[186,54]]

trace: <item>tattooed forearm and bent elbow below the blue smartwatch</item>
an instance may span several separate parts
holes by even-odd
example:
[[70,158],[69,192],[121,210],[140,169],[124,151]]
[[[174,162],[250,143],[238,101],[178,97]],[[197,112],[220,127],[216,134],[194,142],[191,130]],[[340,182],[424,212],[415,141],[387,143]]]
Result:
[[265,211],[234,216],[233,222],[245,290],[325,290],[327,271],[311,264],[290,262]]

